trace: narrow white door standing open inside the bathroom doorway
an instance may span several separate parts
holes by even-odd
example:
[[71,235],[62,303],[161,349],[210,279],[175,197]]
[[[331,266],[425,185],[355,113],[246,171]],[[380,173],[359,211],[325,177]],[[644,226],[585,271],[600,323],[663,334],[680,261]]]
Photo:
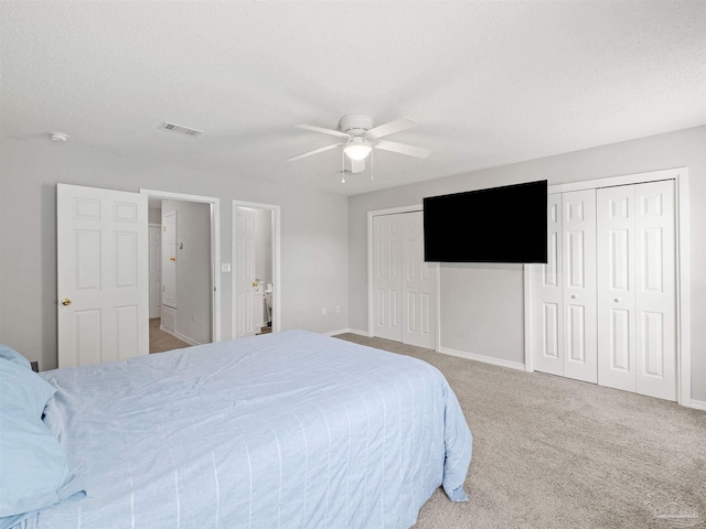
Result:
[[237,244],[235,262],[235,295],[237,312],[236,338],[255,334],[253,314],[255,290],[255,212],[236,207],[235,239]]

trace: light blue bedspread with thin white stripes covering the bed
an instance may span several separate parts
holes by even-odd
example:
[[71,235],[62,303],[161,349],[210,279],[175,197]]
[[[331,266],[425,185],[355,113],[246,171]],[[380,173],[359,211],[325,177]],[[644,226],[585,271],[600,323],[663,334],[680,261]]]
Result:
[[413,357],[288,331],[32,376],[65,467],[0,528],[407,528],[439,486],[468,500],[471,432]]

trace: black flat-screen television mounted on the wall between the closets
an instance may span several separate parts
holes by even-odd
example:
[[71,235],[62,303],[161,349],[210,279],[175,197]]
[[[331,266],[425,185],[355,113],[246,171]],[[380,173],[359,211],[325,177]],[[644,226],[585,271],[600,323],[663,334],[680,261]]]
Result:
[[424,260],[547,262],[547,181],[425,198]]

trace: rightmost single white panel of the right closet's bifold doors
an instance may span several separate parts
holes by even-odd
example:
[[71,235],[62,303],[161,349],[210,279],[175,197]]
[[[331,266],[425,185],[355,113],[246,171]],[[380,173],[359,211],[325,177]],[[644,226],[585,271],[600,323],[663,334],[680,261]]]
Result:
[[674,182],[635,185],[639,393],[676,400]]

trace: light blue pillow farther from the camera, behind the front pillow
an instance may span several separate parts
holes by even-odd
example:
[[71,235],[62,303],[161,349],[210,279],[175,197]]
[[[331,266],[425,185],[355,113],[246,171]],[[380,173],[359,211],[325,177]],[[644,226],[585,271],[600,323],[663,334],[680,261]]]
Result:
[[20,363],[0,360],[0,408],[42,418],[56,388]]

